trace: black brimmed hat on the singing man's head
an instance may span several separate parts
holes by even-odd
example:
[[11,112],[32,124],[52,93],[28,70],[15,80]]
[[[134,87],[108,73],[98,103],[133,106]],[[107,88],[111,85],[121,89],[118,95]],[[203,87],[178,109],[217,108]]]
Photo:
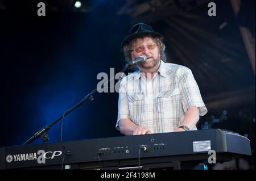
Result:
[[131,28],[130,35],[127,36],[125,38],[125,40],[123,40],[123,42],[121,44],[122,48],[127,43],[129,43],[131,40],[133,40],[137,37],[141,37],[143,35],[148,35],[148,36],[152,36],[152,37],[163,37],[163,39],[164,39],[164,36],[158,32],[155,32],[151,26],[144,24],[144,23],[138,23],[138,24],[135,24]]

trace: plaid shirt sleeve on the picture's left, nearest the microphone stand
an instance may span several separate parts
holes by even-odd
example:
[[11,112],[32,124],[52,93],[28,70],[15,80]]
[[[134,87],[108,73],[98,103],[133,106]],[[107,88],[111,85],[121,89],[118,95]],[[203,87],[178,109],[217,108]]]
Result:
[[124,77],[120,83],[119,87],[119,98],[118,98],[118,116],[117,116],[117,124],[115,128],[120,131],[119,129],[119,121],[123,118],[131,119],[130,112],[128,107],[128,100],[127,100],[127,93],[126,93],[126,81],[127,78]]

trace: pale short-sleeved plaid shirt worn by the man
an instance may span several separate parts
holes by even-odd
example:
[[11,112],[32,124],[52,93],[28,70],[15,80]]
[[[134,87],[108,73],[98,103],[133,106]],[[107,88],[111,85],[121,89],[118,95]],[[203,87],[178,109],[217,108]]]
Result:
[[[130,119],[152,133],[173,132],[191,106],[207,113],[190,69],[161,61],[158,72],[147,79],[140,70],[123,77],[119,88],[118,119]],[[193,128],[196,130],[196,127]]]

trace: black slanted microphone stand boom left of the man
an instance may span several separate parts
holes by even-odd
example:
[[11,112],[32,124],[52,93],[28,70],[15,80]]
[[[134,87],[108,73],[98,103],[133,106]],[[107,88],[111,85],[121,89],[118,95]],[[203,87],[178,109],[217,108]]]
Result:
[[[134,64],[137,64],[137,62],[134,62],[134,61],[131,61],[129,64],[126,64],[125,65],[125,68],[123,68],[120,73],[124,73],[127,69],[130,68],[131,65],[134,65]],[[112,78],[110,78],[108,80],[108,83],[110,81],[112,81],[112,79],[114,78],[115,76],[113,76]],[[104,82],[105,84],[106,82]],[[103,84],[103,85],[104,85]],[[26,142],[24,142],[22,145],[28,145],[30,144],[32,141],[36,140],[38,137],[41,137],[43,142],[47,142],[48,139],[49,139],[49,136],[47,134],[47,131],[54,125],[56,124],[59,120],[63,119],[66,115],[68,115],[69,113],[71,113],[73,110],[75,110],[75,108],[81,106],[85,100],[93,100],[93,94],[97,91],[97,89],[94,89],[92,90],[88,95],[86,95],[84,97],[84,99],[82,99],[79,103],[77,103],[75,106],[73,106],[72,108],[68,109],[67,111],[64,112],[64,114],[62,116],[60,116],[59,118],[57,118],[55,121],[53,121],[51,124],[49,125],[46,125],[46,127],[43,127],[42,129],[40,129],[38,132],[36,132],[34,134],[34,136],[32,136],[31,138],[29,138]]]

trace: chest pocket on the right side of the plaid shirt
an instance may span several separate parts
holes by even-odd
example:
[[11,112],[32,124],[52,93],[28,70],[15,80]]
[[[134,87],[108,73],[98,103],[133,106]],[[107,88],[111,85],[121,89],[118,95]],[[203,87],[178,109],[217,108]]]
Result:
[[158,94],[156,100],[157,110],[164,114],[165,118],[176,119],[180,110],[180,90],[172,89],[165,90]]

